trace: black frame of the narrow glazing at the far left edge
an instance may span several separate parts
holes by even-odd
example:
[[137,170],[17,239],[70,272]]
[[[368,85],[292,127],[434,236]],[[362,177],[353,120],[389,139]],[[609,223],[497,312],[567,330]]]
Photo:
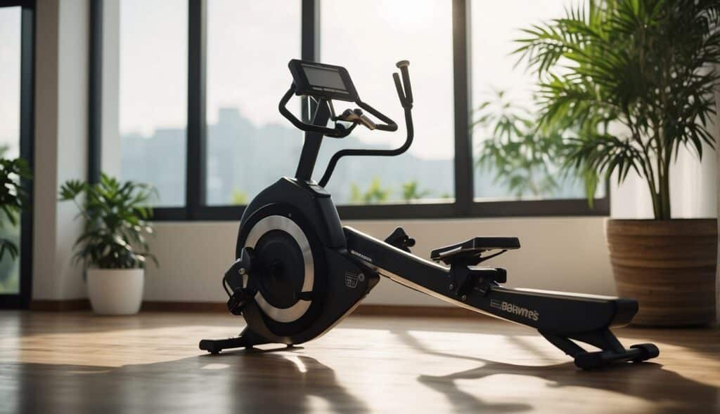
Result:
[[[0,0],[0,8],[21,7],[20,157],[35,171],[35,0]],[[32,206],[32,180],[22,180]],[[20,215],[19,292],[0,294],[0,309],[27,309],[32,298],[32,208]]]

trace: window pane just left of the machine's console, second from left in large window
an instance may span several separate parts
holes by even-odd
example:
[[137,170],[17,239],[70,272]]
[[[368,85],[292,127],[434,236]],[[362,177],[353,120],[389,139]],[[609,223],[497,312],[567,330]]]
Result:
[[[207,203],[246,204],[293,175],[302,134],[277,110],[300,57],[300,0],[207,4]],[[300,100],[297,107],[300,107]]]

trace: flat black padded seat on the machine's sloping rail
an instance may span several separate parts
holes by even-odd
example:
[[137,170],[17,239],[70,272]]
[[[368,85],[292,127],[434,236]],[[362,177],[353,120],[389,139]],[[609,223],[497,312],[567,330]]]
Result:
[[[462,243],[433,249],[430,252],[430,258],[448,265],[460,261],[467,262],[467,265],[477,265],[485,259],[514,249],[520,249],[520,240],[517,237],[474,237]],[[489,257],[482,257],[482,253],[490,250],[500,250],[501,252]]]

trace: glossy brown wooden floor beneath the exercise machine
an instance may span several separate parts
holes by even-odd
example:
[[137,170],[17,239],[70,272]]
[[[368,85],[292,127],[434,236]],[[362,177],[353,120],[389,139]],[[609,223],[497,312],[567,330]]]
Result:
[[2,413],[720,413],[720,331],[622,329],[656,362],[582,372],[528,328],[351,317],[286,349],[211,356],[219,314],[0,312]]

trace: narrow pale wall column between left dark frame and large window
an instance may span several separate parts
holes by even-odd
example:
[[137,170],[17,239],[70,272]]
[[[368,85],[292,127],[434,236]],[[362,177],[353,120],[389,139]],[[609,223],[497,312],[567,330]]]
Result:
[[58,188],[86,178],[87,0],[37,2],[33,299],[84,298],[71,249],[82,224]]

